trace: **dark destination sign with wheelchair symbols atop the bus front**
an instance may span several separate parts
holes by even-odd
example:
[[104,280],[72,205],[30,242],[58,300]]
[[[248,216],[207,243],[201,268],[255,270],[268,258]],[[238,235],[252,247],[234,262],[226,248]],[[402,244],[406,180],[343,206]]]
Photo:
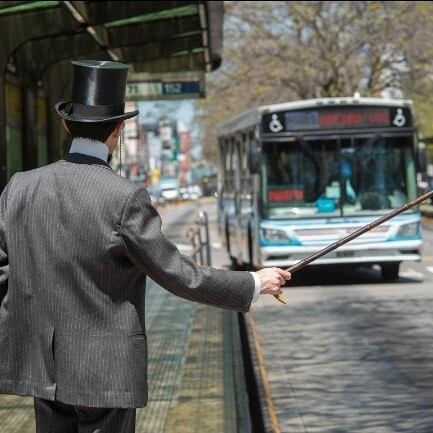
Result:
[[410,126],[412,118],[409,109],[398,107],[333,107],[263,115],[265,133]]

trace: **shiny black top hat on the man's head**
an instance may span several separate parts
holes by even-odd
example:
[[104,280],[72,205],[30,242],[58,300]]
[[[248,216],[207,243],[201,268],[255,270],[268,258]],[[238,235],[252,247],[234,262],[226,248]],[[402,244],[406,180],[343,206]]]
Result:
[[72,122],[115,122],[129,119],[138,110],[125,113],[128,65],[106,60],[78,60],[74,66],[72,97],[58,102],[57,113]]

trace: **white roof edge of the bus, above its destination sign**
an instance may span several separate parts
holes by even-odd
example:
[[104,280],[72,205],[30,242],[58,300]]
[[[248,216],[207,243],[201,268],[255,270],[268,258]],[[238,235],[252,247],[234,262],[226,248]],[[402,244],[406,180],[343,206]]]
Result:
[[282,102],[279,104],[262,105],[245,111],[226,122],[218,125],[218,136],[232,134],[239,130],[253,127],[260,123],[261,116],[264,113],[274,111],[302,110],[314,107],[323,107],[326,105],[365,105],[365,106],[382,106],[382,107],[410,107],[412,101],[409,99],[390,99],[390,98],[361,98],[361,97],[338,97],[338,98],[316,98],[303,99],[299,101]]

